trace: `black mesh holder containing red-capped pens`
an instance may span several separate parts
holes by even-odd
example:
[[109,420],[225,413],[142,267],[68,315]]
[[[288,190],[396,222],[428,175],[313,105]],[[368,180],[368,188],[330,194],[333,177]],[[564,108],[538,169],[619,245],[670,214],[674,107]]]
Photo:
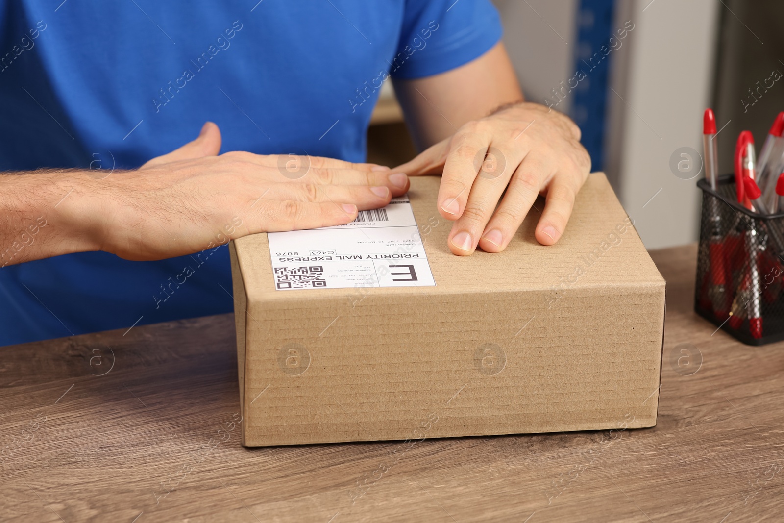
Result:
[[784,212],[738,203],[735,176],[702,189],[694,308],[747,345],[784,340]]

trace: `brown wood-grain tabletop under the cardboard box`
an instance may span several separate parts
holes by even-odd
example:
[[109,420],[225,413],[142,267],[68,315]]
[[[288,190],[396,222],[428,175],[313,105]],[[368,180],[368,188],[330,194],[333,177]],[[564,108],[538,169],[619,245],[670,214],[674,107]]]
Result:
[[245,449],[230,314],[2,347],[0,521],[782,521],[784,344],[691,311],[694,245],[652,257],[650,429]]

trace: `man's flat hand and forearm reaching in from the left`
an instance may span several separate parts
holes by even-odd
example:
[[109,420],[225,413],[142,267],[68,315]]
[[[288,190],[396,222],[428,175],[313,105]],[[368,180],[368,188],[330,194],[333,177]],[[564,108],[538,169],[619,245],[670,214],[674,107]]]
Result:
[[[208,122],[191,143],[101,180],[96,171],[73,169],[0,176],[0,206],[9,207],[0,209],[7,216],[0,239],[13,241],[38,216],[51,226],[10,263],[89,250],[160,260],[207,249],[216,238],[349,223],[358,210],[408,191],[405,174],[379,165],[219,151],[220,130]],[[30,192],[36,205],[23,201]]]

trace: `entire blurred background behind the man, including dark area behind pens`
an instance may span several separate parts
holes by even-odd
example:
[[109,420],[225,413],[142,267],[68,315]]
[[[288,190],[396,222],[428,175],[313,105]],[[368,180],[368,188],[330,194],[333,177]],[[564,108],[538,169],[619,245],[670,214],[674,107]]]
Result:
[[[717,114],[722,173],[731,173],[742,129],[750,129],[760,147],[784,109],[784,78],[756,99],[749,89],[771,71],[784,72],[784,2],[493,1],[525,96],[539,104],[550,100],[583,129],[593,170],[607,173],[646,247],[695,242],[695,183],[704,171],[676,176],[671,158],[680,160],[676,153],[683,147],[702,154],[706,107]],[[624,31],[622,38],[618,31]],[[601,60],[592,60],[596,53]],[[586,74],[575,82],[578,70]],[[381,104],[394,104],[394,95],[385,100]],[[396,154],[414,154],[397,118],[372,127],[371,158],[382,158],[391,147]],[[697,168],[701,162],[695,158]]]

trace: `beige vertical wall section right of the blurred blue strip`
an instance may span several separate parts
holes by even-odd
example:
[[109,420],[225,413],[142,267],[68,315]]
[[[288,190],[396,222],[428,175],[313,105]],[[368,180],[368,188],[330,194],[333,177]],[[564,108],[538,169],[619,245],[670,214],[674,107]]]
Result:
[[711,103],[720,4],[649,1],[622,2],[619,13],[635,28],[627,67],[613,78],[618,95],[612,93],[610,131],[620,147],[608,169],[645,246],[657,249],[698,238],[696,179],[675,176],[670,156],[679,147],[702,154],[702,111]]

